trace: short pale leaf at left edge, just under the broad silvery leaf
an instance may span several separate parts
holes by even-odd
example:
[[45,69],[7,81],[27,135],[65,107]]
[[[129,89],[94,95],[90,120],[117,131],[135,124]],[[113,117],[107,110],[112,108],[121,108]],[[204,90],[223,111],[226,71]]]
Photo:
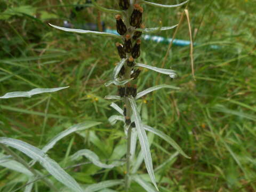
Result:
[[10,156],[0,154],[0,166],[23,173],[28,176],[33,176],[33,173],[31,173],[24,165],[15,160],[12,160]]

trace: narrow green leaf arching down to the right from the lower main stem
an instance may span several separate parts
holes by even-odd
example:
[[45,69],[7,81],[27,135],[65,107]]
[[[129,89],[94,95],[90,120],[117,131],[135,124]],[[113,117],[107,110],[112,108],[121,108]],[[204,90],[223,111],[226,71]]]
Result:
[[171,137],[169,137],[168,135],[166,135],[165,133],[163,133],[162,131],[159,131],[157,129],[154,129],[153,127],[150,127],[148,125],[143,125],[144,129],[147,131],[150,131],[156,135],[158,135],[159,137],[161,137],[162,139],[164,139],[165,141],[167,141],[174,149],[176,149],[181,155],[183,155],[186,158],[190,158],[189,156],[187,156],[184,151],[180,148],[180,146],[177,144],[177,142],[175,142]]

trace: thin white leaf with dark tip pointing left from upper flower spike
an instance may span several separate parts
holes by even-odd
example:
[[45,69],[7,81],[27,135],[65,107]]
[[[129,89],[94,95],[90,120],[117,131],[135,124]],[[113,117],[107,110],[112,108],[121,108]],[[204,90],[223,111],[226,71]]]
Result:
[[119,35],[110,34],[110,33],[105,33],[105,32],[91,31],[91,30],[83,30],[83,29],[71,29],[71,28],[66,28],[66,27],[55,26],[55,25],[52,25],[51,23],[48,23],[48,24],[49,24],[50,26],[56,28],[56,29],[63,30],[63,31],[67,31],[67,32],[71,32],[71,33],[90,34],[90,35],[100,35],[100,36],[108,36],[108,37],[121,38],[121,36],[119,36]]

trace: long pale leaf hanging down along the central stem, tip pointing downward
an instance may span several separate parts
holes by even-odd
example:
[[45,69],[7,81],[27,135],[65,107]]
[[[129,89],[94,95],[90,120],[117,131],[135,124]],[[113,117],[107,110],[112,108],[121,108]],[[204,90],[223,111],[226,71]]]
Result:
[[133,116],[134,116],[134,123],[136,125],[136,130],[137,130],[138,138],[140,141],[140,147],[143,152],[146,169],[148,171],[148,174],[149,174],[149,177],[150,177],[152,183],[158,190],[157,185],[156,185],[154,170],[153,170],[152,157],[151,157],[150,149],[149,149],[148,137],[147,137],[145,130],[143,129],[140,114],[139,114],[138,108],[136,106],[135,100],[133,98],[129,97],[129,101],[131,103],[132,112],[133,112]]

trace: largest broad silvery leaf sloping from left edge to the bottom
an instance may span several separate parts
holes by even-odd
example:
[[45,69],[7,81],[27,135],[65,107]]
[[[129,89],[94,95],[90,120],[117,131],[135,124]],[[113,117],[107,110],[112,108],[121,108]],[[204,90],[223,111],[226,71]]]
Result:
[[38,161],[55,179],[74,191],[83,192],[83,189],[58,163],[49,158],[42,150],[29,145],[26,142],[0,137],[0,143],[18,149],[30,158]]

